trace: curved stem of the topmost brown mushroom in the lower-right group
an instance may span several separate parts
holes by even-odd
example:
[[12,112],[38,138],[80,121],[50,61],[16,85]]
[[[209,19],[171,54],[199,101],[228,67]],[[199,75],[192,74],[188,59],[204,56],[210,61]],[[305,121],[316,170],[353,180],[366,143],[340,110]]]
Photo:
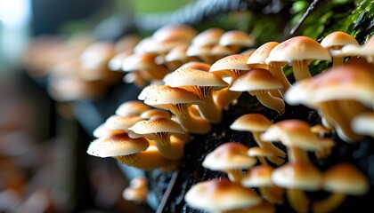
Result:
[[272,152],[273,156],[269,156],[267,158],[269,159],[270,162],[273,162],[277,166],[280,166],[286,161],[286,153],[283,150],[281,150],[279,147],[274,146],[272,143],[264,142],[263,140],[261,140],[260,138],[261,133],[262,132],[259,132],[259,131],[252,132],[253,138],[255,138],[257,145]]

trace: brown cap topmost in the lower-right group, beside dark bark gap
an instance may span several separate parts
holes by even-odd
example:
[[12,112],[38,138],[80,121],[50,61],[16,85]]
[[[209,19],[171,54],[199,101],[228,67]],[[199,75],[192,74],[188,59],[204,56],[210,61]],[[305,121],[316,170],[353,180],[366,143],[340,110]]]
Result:
[[232,130],[244,130],[244,131],[265,131],[272,125],[270,121],[263,114],[242,114],[240,117],[235,119],[230,125]]

